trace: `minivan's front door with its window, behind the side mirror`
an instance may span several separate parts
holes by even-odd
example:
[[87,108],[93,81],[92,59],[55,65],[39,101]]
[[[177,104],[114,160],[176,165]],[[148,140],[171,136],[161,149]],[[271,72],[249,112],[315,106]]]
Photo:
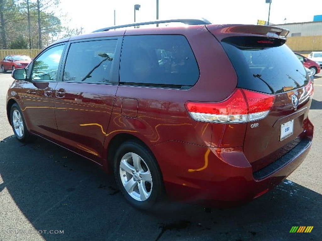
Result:
[[[28,128],[45,138],[57,140],[53,91],[57,85],[57,70],[65,45],[54,46],[33,61],[30,82],[24,84],[24,117]],[[29,121],[32,120],[32,121]]]

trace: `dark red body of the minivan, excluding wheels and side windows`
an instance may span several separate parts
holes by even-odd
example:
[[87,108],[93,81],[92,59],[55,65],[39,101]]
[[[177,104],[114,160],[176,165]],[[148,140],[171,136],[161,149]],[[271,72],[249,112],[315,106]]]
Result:
[[[198,25],[106,31],[60,40],[52,46],[61,44],[68,49],[74,42],[107,37],[124,45],[128,36],[184,36],[198,64],[198,79],[193,86],[182,88],[121,83],[125,57],[119,45],[111,70],[115,83],[64,82],[60,74],[53,81],[15,80],[7,96],[8,120],[13,122],[10,110],[17,103],[31,133],[85,156],[107,171],[112,170],[117,148],[129,139],[135,140],[155,157],[171,198],[218,206],[250,201],[291,174],[308,154],[313,138],[313,125],[308,119],[312,83],[283,44],[283,34],[287,33],[281,29],[279,36],[268,37],[277,29],[271,28]],[[256,39],[258,36],[260,39]],[[244,87],[250,84],[241,82],[240,60],[235,61],[234,52],[230,53],[248,54],[247,49],[234,47],[233,41],[242,42],[240,37],[255,38],[250,44],[268,45],[268,49],[281,41],[278,48],[287,48],[290,62],[296,65],[291,67],[304,84],[292,87],[293,82],[283,83],[278,87],[281,89],[269,93],[266,81],[263,84],[260,80],[265,78],[264,67],[251,63],[251,69],[262,73],[251,74],[250,83],[254,81],[255,88],[261,85],[268,93]],[[59,69],[68,62],[67,50],[63,53]],[[255,56],[251,59],[255,61]],[[231,118],[231,122],[221,122],[222,118]],[[289,136],[281,133],[289,131],[284,128],[286,124],[292,128]]]

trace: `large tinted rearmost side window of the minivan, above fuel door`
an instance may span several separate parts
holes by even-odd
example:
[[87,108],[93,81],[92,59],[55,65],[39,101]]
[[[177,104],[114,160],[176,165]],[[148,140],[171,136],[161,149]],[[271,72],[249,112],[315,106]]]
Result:
[[125,36],[120,83],[150,86],[193,86],[199,68],[182,35]]

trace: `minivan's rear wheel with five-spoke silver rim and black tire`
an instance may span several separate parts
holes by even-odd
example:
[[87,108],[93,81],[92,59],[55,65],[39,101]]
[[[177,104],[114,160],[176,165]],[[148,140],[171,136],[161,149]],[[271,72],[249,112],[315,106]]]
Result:
[[114,158],[114,175],[125,199],[148,210],[164,195],[161,172],[151,151],[134,141],[120,145]]

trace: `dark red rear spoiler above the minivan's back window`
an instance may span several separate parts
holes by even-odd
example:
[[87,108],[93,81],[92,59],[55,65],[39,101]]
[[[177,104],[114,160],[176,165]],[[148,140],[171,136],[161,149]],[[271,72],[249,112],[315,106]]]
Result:
[[231,36],[257,35],[270,38],[286,39],[288,29],[266,25],[205,25],[206,28],[219,40]]

